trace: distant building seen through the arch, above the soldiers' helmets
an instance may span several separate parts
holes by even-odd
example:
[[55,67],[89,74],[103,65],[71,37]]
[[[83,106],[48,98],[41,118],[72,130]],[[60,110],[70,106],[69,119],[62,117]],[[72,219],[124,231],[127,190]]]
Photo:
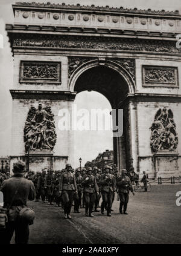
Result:
[[98,168],[103,169],[105,165],[113,165],[114,157],[113,157],[113,150],[106,149],[103,153],[99,153],[96,159],[92,160],[91,162],[87,161],[85,167],[94,167],[97,166]]

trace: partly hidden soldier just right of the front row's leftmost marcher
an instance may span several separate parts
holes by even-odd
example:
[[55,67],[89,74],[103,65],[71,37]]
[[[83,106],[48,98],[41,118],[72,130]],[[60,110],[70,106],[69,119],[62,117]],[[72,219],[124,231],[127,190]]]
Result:
[[75,180],[77,184],[77,192],[78,196],[75,194],[75,200],[74,200],[74,212],[75,213],[80,213],[79,208],[81,205],[81,195],[83,192],[83,187],[82,187],[82,181],[83,177],[80,175],[80,169],[75,170]]

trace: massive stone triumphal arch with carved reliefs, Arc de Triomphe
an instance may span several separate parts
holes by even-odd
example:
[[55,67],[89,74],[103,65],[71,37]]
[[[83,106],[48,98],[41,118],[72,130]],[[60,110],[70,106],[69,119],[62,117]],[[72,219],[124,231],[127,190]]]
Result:
[[16,159],[35,171],[74,163],[74,133],[58,129],[58,111],[95,90],[124,110],[123,136],[113,138],[118,168],[180,175],[179,11],[21,2],[13,12],[11,169]]

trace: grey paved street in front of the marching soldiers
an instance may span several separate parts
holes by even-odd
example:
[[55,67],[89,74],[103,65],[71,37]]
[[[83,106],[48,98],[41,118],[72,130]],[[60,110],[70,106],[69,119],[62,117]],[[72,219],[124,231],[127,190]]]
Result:
[[113,204],[112,217],[95,213],[94,218],[72,213],[63,219],[63,209],[55,205],[29,203],[36,210],[30,227],[29,243],[181,243],[181,206],[176,192],[181,185],[154,186],[151,192],[130,195],[129,215],[118,214]]

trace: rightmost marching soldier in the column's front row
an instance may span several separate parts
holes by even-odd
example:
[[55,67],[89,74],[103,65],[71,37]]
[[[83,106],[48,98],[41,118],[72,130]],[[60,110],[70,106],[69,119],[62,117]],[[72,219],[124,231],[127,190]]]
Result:
[[129,202],[129,191],[132,191],[133,195],[135,193],[133,192],[133,186],[132,182],[130,181],[130,178],[127,176],[126,169],[122,169],[121,176],[118,177],[116,181],[116,185],[118,186],[118,193],[119,193],[119,212],[122,214],[122,206],[123,206],[123,213],[127,214],[127,204]]

